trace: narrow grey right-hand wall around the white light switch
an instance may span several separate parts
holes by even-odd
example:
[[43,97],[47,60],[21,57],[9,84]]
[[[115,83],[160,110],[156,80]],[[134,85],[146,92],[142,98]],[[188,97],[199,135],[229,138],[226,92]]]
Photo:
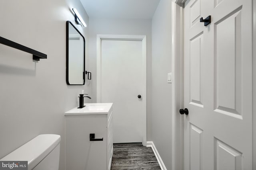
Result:
[[172,84],[171,1],[161,0],[152,18],[152,141],[166,168],[171,170]]

